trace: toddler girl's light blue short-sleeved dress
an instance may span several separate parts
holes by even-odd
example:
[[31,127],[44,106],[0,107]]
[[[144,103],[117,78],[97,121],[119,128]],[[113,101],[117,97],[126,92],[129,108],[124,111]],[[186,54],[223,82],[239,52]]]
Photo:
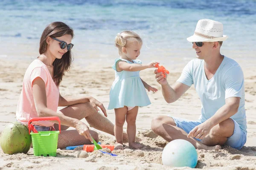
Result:
[[142,64],[139,59],[130,62],[126,59],[117,58],[112,68],[115,70],[115,80],[111,86],[110,102],[108,109],[123,108],[124,106],[147,106],[151,102],[140,79],[140,71],[116,71],[116,62],[119,60],[130,64]]

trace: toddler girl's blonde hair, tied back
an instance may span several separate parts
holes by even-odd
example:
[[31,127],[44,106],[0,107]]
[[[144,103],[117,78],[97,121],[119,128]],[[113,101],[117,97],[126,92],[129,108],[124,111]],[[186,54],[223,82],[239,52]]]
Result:
[[122,31],[118,33],[115,38],[115,45],[118,48],[119,55],[122,54],[122,48],[125,47],[127,41],[137,40],[142,44],[142,39],[140,36],[133,31]]

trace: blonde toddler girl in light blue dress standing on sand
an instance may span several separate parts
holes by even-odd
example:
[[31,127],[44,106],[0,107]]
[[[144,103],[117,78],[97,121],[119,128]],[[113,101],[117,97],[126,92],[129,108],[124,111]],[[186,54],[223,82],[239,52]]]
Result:
[[123,31],[115,39],[120,58],[115,59],[112,68],[115,70],[115,80],[111,86],[108,109],[115,109],[116,121],[114,133],[115,149],[124,149],[122,142],[123,125],[127,122],[129,146],[139,149],[142,145],[135,143],[136,117],[139,106],[150,105],[151,102],[145,91],[156,92],[140,78],[139,72],[146,68],[154,68],[158,62],[142,64],[137,59],[140,55],[142,39],[133,31]]

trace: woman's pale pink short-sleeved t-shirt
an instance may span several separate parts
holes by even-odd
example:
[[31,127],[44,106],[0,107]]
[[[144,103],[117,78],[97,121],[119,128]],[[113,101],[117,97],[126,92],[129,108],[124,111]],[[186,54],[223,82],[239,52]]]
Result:
[[[39,59],[35,59],[27,68],[23,79],[22,91],[17,105],[16,118],[17,121],[28,124],[29,119],[38,117],[34,96],[33,96],[33,81],[35,78],[40,77],[44,80],[45,90],[47,96],[47,108],[52,111],[57,111],[59,100],[59,88],[53,81],[47,66]],[[33,122],[35,125],[52,126],[53,122],[38,121]]]

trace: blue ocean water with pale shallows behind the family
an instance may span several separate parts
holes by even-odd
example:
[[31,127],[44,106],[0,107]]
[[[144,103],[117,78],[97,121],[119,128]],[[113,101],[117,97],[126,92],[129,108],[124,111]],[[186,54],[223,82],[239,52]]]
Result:
[[200,19],[224,24],[221,53],[241,65],[256,64],[256,0],[0,0],[0,59],[38,56],[44,28],[62,21],[74,29],[74,62],[113,62],[117,33],[143,38],[138,59],[176,65],[195,58],[186,38]]

